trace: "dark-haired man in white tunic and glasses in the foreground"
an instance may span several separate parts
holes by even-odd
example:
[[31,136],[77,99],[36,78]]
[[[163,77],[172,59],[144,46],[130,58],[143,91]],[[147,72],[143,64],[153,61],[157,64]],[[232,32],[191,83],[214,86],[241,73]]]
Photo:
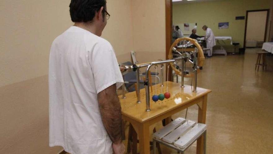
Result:
[[52,43],[49,57],[49,145],[71,154],[122,154],[123,78],[111,44],[101,38],[105,0],[71,0],[75,23]]

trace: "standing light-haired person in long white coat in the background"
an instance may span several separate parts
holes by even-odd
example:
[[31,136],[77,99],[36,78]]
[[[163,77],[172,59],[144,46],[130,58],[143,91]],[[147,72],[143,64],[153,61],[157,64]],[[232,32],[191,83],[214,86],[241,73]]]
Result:
[[204,25],[202,29],[206,30],[205,40],[207,48],[210,49],[210,53],[208,56],[211,57],[213,53],[213,47],[216,45],[215,36],[213,34],[213,31],[210,28],[208,28],[208,26]]

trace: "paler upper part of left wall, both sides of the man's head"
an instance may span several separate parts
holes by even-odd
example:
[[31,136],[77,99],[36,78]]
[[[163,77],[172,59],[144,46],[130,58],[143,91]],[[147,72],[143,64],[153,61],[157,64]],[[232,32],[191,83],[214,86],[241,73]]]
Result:
[[[1,0],[0,86],[48,73],[52,41],[73,24],[69,3]],[[131,0],[108,0],[107,5],[111,17],[102,37],[113,45],[117,56],[125,54],[130,58],[129,52],[133,49]]]

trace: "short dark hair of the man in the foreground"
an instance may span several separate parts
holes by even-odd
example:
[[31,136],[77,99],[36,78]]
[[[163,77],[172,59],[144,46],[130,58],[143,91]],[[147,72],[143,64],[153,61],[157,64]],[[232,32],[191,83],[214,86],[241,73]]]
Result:
[[[73,22],[92,21],[96,12],[106,7],[106,0],[71,0],[69,5],[70,17]],[[102,13],[105,16],[105,11]]]

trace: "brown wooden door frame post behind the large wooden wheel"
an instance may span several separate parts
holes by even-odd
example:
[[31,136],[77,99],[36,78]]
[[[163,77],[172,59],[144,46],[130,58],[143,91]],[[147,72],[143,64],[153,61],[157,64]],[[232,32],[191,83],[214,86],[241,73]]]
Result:
[[[172,0],[165,0],[166,14],[166,59],[172,45]],[[172,81],[172,68],[170,67],[169,74],[166,73],[166,79]]]

